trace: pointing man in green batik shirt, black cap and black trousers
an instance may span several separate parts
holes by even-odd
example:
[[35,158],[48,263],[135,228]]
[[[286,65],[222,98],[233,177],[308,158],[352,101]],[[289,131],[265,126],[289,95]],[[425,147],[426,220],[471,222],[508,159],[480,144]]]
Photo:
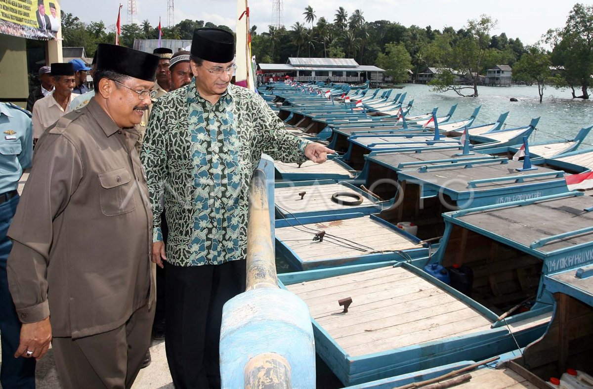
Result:
[[266,102],[229,84],[234,37],[196,30],[190,85],[154,103],[141,160],[154,215],[152,260],[167,260],[165,346],[176,388],[219,388],[222,305],[245,289],[247,192],[262,153],[324,162],[333,150],[288,133]]

